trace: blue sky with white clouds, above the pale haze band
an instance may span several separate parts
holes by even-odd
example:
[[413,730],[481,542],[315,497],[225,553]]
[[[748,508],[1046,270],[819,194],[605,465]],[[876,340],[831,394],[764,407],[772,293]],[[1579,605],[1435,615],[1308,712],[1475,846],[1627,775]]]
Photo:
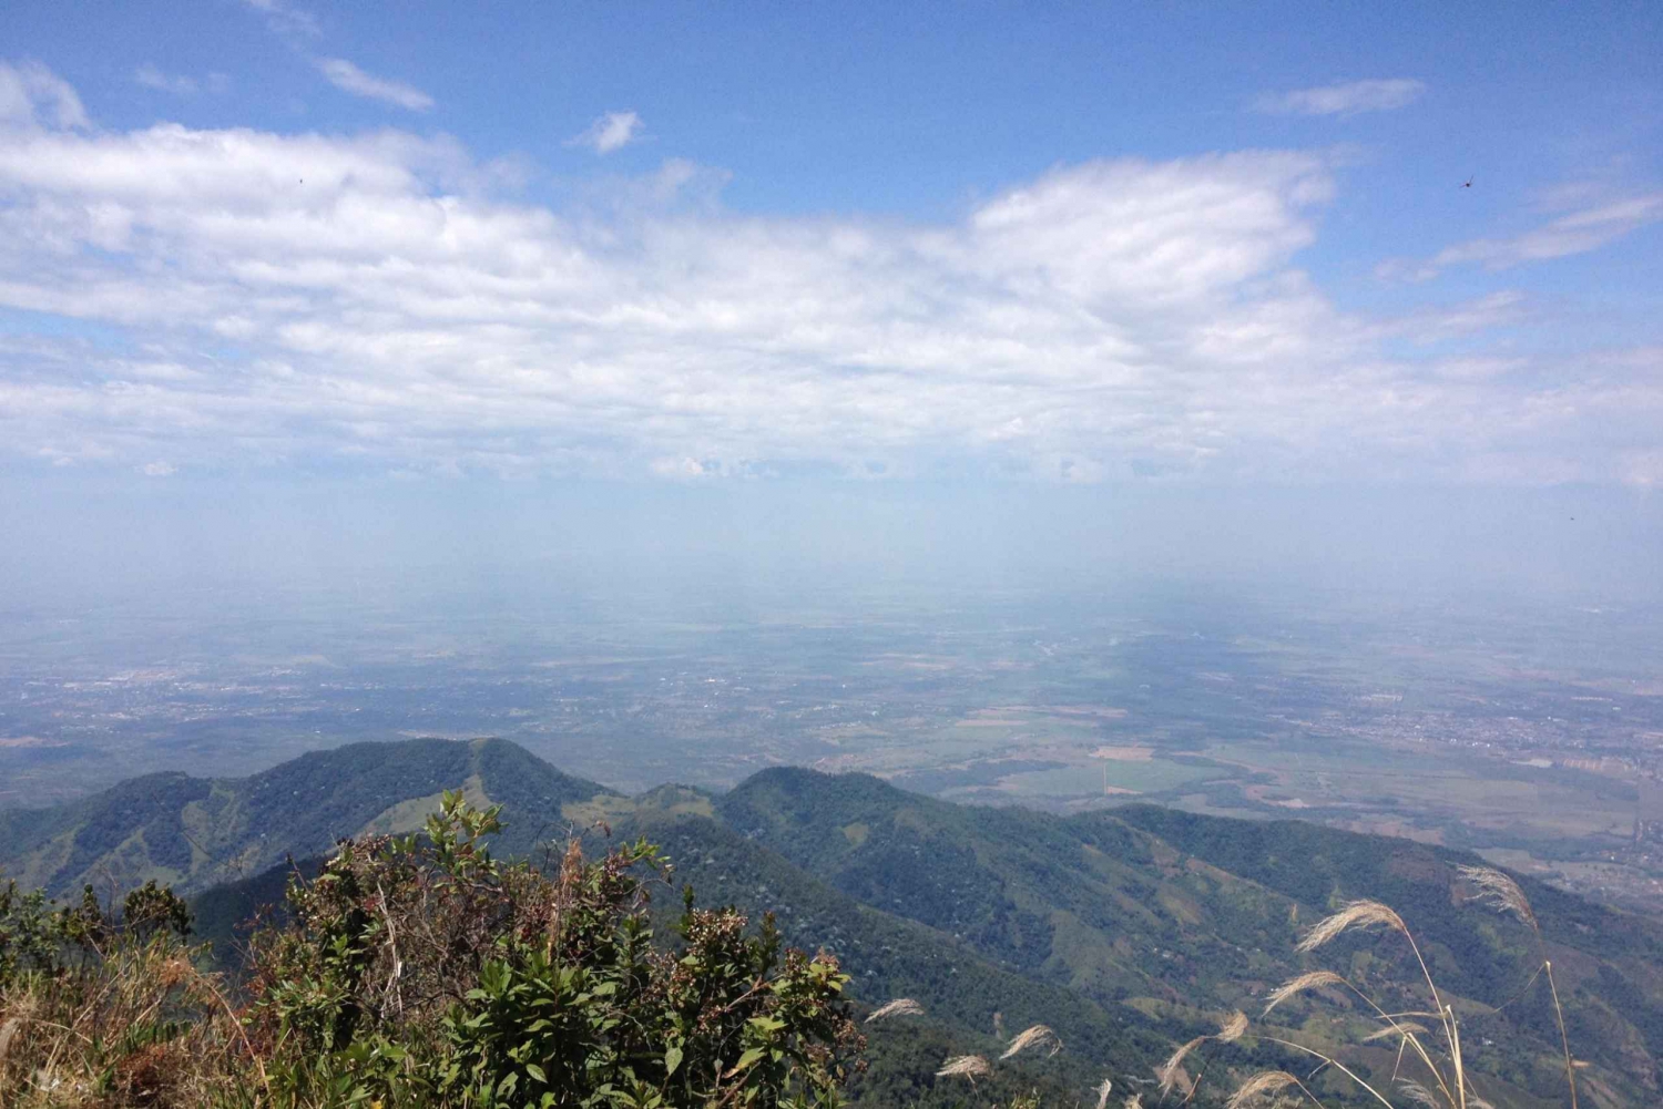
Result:
[[1650,489],[1660,58],[1655,3],[12,3],[0,472]]

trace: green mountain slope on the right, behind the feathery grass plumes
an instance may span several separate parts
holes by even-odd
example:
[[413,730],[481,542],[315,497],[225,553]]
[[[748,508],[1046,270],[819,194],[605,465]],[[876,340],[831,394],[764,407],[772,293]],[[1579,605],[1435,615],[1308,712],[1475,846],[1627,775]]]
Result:
[[[1532,934],[1467,903],[1477,856],[1299,821],[1199,818],[1136,806],[1051,816],[965,808],[865,775],[768,770],[718,798],[738,833],[845,895],[963,938],[978,953],[1104,1006],[1164,1018],[1177,1038],[1219,1011],[1257,1013],[1277,983],[1319,966],[1425,1006],[1395,938],[1345,938],[1299,956],[1304,928],[1352,898],[1395,906],[1420,933],[1447,999],[1495,1076],[1497,1104],[1563,1091],[1552,1003]],[[1572,1041],[1611,1104],[1658,1097],[1663,928],[1525,883],[1558,968]],[[1332,1009],[1332,1006],[1330,1006]],[[1290,1003],[1284,1034],[1320,1006]],[[1309,1031],[1309,1029],[1305,1029]],[[1387,1061],[1387,1069],[1389,1069]]]

